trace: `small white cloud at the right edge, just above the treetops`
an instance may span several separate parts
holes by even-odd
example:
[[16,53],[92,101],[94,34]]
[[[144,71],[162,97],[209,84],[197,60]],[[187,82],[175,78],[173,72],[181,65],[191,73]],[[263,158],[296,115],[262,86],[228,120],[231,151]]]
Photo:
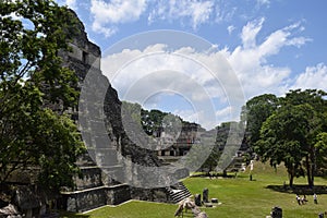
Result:
[[315,66],[308,66],[305,69],[305,72],[298,75],[295,78],[294,85],[290,87],[291,89],[296,88],[316,88],[316,89],[326,89],[327,84],[327,65],[324,63],[318,63]]

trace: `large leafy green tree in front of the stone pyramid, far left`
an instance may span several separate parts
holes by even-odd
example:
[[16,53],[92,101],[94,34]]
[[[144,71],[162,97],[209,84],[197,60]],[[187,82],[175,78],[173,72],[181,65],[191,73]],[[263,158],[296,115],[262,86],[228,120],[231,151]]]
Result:
[[0,183],[36,166],[45,187],[72,185],[84,146],[64,111],[77,104],[77,78],[58,51],[69,50],[75,24],[51,0],[0,2]]

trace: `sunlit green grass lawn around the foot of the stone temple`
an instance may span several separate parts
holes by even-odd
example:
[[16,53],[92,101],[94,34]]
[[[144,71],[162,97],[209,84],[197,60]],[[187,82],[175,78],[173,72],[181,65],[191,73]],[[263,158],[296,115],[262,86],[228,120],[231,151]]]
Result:
[[[216,197],[222,204],[214,208],[202,208],[210,218],[264,218],[269,215],[271,207],[280,206],[286,218],[317,218],[318,214],[327,210],[327,194],[318,194],[318,204],[313,203],[313,196],[307,195],[305,205],[298,205],[295,194],[268,189],[268,185],[282,187],[288,177],[283,168],[275,171],[268,165],[255,162],[253,181],[249,180],[249,171],[239,173],[235,179],[189,178],[184,184],[192,194],[202,193],[208,187],[209,198]],[[327,180],[316,178],[316,185],[326,185]],[[295,184],[306,184],[304,178],[295,180]],[[302,195],[301,195],[302,196]],[[131,201],[117,207],[106,206],[83,215],[63,217],[81,218],[172,218],[177,205],[157,204]],[[184,217],[193,217],[191,214]]]

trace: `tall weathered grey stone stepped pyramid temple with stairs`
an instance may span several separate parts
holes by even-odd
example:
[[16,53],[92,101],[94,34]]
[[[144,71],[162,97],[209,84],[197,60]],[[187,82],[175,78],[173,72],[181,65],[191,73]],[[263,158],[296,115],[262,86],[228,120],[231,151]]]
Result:
[[[82,22],[78,23],[78,28],[81,34],[71,43],[72,51],[60,51],[59,55],[62,57],[64,65],[72,69],[78,76],[80,87],[77,88],[80,90],[88,86],[89,95],[100,92],[101,87],[107,87],[107,92],[104,99],[98,99],[104,113],[97,113],[99,108],[94,107],[94,104],[87,105],[87,102],[83,105],[84,108],[82,107],[85,110],[83,112],[93,112],[96,117],[77,119],[78,113],[81,116],[81,106],[80,111],[77,108],[71,110],[76,122],[83,122],[81,131],[84,133],[84,142],[94,148],[88,147],[88,154],[85,154],[77,162],[83,177],[75,178],[76,187],[74,190],[62,192],[59,201],[60,208],[69,211],[84,211],[104,205],[117,205],[129,199],[175,203],[190,196],[190,192],[182,183],[167,187],[142,189],[130,186],[110,177],[111,173],[122,173],[128,174],[129,180],[137,180],[137,173],[133,173],[133,169],[121,161],[118,153],[143,166],[156,167],[161,164],[155,153],[135,146],[128,137],[122,124],[121,101],[100,70],[101,51],[97,45],[87,39]],[[86,84],[85,76],[92,76],[95,83]],[[97,126],[104,121],[106,131],[95,131],[98,129],[93,126]],[[87,132],[88,129],[89,132]],[[98,166],[99,162],[101,168]],[[101,170],[104,168],[105,172]]]

